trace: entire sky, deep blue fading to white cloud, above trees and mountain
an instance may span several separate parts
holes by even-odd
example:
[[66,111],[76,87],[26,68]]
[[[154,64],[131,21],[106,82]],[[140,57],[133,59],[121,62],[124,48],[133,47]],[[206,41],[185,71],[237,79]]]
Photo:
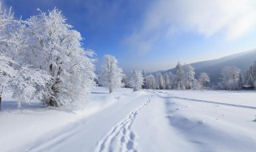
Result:
[[57,7],[94,50],[124,71],[168,70],[177,62],[220,58],[256,48],[254,0],[5,0],[23,19]]

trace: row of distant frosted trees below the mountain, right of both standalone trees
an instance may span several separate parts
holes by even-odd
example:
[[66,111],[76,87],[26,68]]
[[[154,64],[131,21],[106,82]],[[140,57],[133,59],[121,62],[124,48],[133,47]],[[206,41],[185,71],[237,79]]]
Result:
[[[217,86],[212,86],[212,89],[239,90],[245,84],[256,86],[256,62],[250,66],[246,78],[243,78],[242,71],[236,66],[225,66],[221,74],[221,82]],[[198,78],[195,78],[192,66],[178,63],[174,69],[174,74],[171,72],[158,72],[147,75],[145,77],[145,88],[157,90],[210,89],[210,76],[209,74],[201,73]]]

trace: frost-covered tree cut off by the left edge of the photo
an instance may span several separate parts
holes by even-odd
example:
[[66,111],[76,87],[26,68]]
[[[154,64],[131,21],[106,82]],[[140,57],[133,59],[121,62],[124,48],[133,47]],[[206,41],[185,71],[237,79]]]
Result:
[[[21,19],[14,19],[11,9],[6,13],[0,6],[0,103],[6,87],[13,90],[13,97],[17,98],[19,103],[30,102],[39,98],[40,95],[36,92],[40,83],[49,82],[49,77],[42,74],[42,71],[30,68],[24,62],[28,44],[26,26],[26,22]],[[17,94],[18,91],[22,94]]]

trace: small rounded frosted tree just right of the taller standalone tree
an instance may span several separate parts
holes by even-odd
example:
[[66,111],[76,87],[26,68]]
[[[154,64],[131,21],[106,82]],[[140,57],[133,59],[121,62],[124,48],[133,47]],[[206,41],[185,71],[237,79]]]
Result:
[[129,85],[134,89],[134,91],[140,90],[142,88],[144,78],[142,72],[139,70],[133,70],[130,73]]

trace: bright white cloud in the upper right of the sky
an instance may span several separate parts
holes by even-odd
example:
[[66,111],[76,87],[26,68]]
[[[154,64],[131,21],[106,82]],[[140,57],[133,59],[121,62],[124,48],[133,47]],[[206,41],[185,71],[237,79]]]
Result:
[[177,32],[193,32],[205,37],[222,35],[241,38],[256,26],[254,0],[158,0],[146,11],[144,21],[125,42],[150,50],[160,38]]

